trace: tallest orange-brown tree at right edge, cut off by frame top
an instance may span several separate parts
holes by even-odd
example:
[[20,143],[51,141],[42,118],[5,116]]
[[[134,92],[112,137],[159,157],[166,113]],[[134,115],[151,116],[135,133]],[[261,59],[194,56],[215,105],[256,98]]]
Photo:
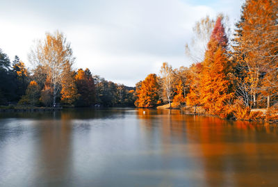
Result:
[[240,21],[236,24],[234,61],[237,74],[237,95],[245,106],[256,106],[258,95],[277,93],[277,1],[247,0]]

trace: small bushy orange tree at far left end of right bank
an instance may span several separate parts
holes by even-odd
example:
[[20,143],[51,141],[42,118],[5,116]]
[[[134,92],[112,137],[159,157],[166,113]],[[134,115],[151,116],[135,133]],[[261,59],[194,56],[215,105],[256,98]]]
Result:
[[144,81],[136,84],[135,106],[151,108],[156,106],[159,101],[159,85],[156,74],[149,74]]

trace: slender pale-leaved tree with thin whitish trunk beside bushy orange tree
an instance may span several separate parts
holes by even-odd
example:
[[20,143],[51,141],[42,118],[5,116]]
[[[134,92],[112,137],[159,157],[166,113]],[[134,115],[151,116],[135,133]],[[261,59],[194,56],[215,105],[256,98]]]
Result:
[[166,95],[171,108],[172,96],[174,94],[173,92],[174,73],[172,70],[172,66],[168,65],[168,63],[163,63],[160,73],[161,73],[161,87],[163,88],[163,92]]

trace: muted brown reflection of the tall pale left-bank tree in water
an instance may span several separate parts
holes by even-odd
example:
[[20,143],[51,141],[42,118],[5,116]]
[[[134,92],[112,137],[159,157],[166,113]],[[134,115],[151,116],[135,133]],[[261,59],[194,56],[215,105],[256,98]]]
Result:
[[[61,115],[61,120],[44,121],[40,124],[41,132],[41,166],[46,172],[46,181],[66,181],[72,165],[72,124],[68,115]],[[58,185],[59,186],[59,185]]]

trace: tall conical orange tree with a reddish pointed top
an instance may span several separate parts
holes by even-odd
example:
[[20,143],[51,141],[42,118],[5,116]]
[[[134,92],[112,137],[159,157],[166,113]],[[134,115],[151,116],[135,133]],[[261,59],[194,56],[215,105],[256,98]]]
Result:
[[227,76],[230,69],[227,42],[222,17],[218,17],[208,42],[200,76],[200,101],[208,113],[222,117],[225,117],[223,112],[228,109],[228,101],[233,96],[229,90],[230,81]]

